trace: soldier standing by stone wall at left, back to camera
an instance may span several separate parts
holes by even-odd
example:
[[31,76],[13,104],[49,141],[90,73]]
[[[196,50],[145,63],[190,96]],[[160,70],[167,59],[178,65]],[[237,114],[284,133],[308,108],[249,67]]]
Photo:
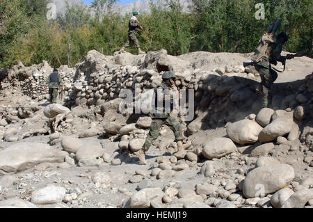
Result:
[[61,74],[58,73],[58,69],[54,68],[54,72],[51,73],[47,79],[45,90],[49,87],[50,103],[56,103],[58,97],[58,88],[63,90],[63,81]]

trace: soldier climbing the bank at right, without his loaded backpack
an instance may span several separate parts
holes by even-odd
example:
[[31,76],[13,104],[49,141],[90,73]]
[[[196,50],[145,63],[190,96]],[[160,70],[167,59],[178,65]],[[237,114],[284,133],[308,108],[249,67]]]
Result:
[[281,56],[282,45],[288,41],[288,35],[284,32],[278,34],[277,40],[268,45],[268,49],[262,60],[255,64],[255,69],[259,72],[262,84],[262,108],[271,104],[273,83],[277,79],[278,74],[271,68],[271,64],[277,65],[281,62],[285,65],[286,59],[291,59],[290,55]]

